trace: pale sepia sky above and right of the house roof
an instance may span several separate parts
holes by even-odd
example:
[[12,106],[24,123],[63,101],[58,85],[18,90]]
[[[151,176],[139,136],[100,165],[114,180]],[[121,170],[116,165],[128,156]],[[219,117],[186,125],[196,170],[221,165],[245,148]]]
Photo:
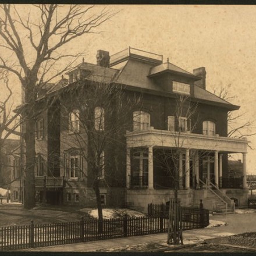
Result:
[[[65,52],[83,51],[95,63],[98,49],[115,54],[127,47],[163,55],[183,69],[207,70],[207,90],[229,86],[232,103],[244,113],[237,123],[255,120],[256,6],[254,5],[109,5],[117,14],[97,34],[84,35]],[[16,5],[27,15],[29,5]],[[101,6],[97,6],[101,8]],[[79,61],[81,62],[81,60]],[[20,101],[20,84],[13,79],[13,101]],[[256,122],[255,122],[256,123]],[[254,132],[255,123],[248,132]],[[247,131],[246,131],[247,132]],[[248,137],[256,148],[256,136]],[[248,148],[247,173],[256,175],[255,151]],[[236,156],[241,159],[242,155]]]

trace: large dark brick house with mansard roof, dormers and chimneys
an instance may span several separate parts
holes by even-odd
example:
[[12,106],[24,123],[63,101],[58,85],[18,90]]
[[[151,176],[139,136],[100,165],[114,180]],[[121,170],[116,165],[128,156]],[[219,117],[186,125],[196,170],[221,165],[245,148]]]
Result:
[[[84,79],[88,71],[90,75]],[[123,131],[126,146],[118,151],[118,170],[115,174],[111,174],[111,166],[104,170],[106,182],[102,179],[100,187],[102,204],[146,211],[148,203],[165,203],[172,197],[176,170],[182,205],[198,205],[202,199],[209,209],[232,208],[230,198],[236,198],[239,206],[246,205],[247,140],[227,137],[227,113],[239,106],[206,90],[204,67],[190,73],[169,59],[163,62],[162,55],[128,48],[111,57],[106,51],[98,51],[97,64],[83,61],[67,76],[68,79],[62,77],[55,85],[47,84],[38,93],[38,105],[44,105],[45,98],[54,97],[56,92],[83,79],[119,84],[128,96],[141,97],[140,106],[130,112],[130,128]],[[180,105],[182,111],[177,115],[177,105],[183,99],[190,103]],[[193,116],[188,115],[191,105]],[[64,108],[70,112],[66,113]],[[45,198],[48,204],[95,206],[90,166],[79,152],[88,148],[78,147],[74,134],[69,132],[70,122],[79,129],[76,117],[80,111],[76,101],[65,94],[37,117],[38,200]],[[175,150],[179,151],[179,158],[176,163],[168,159],[169,167],[166,167],[163,156]],[[228,175],[227,154],[230,153],[243,154],[240,177]],[[115,158],[109,152],[104,157]],[[77,171],[76,166],[83,172]],[[113,180],[113,175],[118,182]]]

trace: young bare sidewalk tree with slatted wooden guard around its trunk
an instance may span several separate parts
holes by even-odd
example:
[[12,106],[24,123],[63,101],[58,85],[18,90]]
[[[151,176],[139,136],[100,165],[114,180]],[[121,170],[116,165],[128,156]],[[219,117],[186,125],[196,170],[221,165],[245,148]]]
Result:
[[[176,109],[172,122],[168,123],[168,130],[171,131],[173,140],[173,148],[164,148],[158,150],[157,156],[154,158],[158,165],[161,166],[166,173],[166,178],[159,180],[168,180],[168,186],[171,189],[170,199],[170,216],[168,225],[168,243],[179,244],[182,241],[182,219],[180,214],[180,203],[178,192],[190,180],[184,180],[189,177],[189,169],[187,163],[183,164],[180,157],[184,154],[184,143],[187,140],[186,133],[191,133],[198,123],[197,104],[191,102],[186,95],[179,95],[176,98]],[[176,124],[176,125],[175,125]],[[191,153],[193,153],[191,151]],[[193,154],[190,154],[190,157]],[[187,161],[187,159],[186,159]],[[184,166],[183,166],[184,165]],[[169,177],[169,179],[168,179]],[[195,183],[195,180],[193,180]]]

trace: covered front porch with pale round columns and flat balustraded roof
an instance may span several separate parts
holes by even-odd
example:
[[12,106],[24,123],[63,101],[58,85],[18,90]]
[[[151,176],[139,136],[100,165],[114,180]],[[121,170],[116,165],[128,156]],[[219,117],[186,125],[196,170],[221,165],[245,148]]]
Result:
[[[193,190],[207,188],[224,191],[247,188],[247,140],[218,135],[173,134],[152,127],[147,131],[127,132],[126,138],[126,187],[127,194],[133,194],[134,200],[136,193],[142,193],[151,195],[144,198],[147,203],[161,203],[161,196],[155,201],[153,195],[161,194],[161,191],[166,194],[165,191],[175,188],[179,193],[188,190],[190,195]],[[227,173],[227,154],[230,153],[243,155],[241,176]],[[190,204],[193,202],[191,200]]]

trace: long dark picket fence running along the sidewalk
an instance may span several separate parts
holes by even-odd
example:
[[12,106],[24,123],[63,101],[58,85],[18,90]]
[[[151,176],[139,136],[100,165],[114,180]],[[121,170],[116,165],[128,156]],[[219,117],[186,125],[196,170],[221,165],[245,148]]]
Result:
[[[209,224],[208,215],[199,209],[190,211],[183,207],[183,230],[198,229]],[[205,219],[204,219],[205,218]],[[204,219],[204,222],[201,220]],[[208,221],[208,222],[207,222]],[[98,232],[102,226],[102,232]],[[151,215],[137,218],[104,219],[79,222],[51,223],[36,225],[31,221],[26,226],[0,227],[0,248],[2,251],[22,248],[55,246],[59,244],[113,239],[118,237],[141,236],[164,233],[168,230],[166,215]]]

